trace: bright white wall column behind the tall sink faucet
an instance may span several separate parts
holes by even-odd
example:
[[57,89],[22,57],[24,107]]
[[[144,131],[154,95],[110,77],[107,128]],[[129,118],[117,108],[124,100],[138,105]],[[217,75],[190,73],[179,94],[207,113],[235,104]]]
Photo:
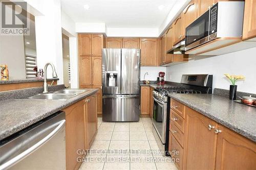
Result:
[[[30,3],[30,1],[28,1]],[[37,0],[31,2],[34,7],[40,7],[42,16],[35,16],[37,65],[44,68],[45,64],[54,64],[59,78],[58,84],[63,83],[62,39],[61,39],[61,9],[58,0]],[[40,4],[40,6],[38,6]],[[43,8],[45,7],[45,8]],[[47,77],[50,78],[51,68]]]

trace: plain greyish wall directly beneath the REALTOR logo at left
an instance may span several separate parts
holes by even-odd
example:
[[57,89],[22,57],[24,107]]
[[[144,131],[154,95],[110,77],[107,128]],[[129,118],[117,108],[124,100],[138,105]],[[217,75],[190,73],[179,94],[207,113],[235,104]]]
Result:
[[23,36],[0,36],[0,65],[7,64],[9,79],[26,79]]

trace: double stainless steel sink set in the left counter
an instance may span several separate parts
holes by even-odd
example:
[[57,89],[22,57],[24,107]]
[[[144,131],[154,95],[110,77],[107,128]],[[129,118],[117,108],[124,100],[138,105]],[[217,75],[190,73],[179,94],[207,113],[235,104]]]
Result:
[[74,96],[85,93],[89,90],[82,89],[64,89],[58,90],[51,93],[42,93],[29,97],[28,99],[32,100],[68,100]]

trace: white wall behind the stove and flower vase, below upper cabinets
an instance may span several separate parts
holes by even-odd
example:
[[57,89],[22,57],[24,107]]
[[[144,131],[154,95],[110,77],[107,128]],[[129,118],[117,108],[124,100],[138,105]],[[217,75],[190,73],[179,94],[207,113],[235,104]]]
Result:
[[[256,47],[247,50],[203,58],[167,67],[167,81],[180,82],[183,74],[212,74],[213,87],[229,89],[229,81],[223,74],[244,75],[245,81],[237,83],[238,91],[256,93]],[[170,79],[172,76],[172,79]]]

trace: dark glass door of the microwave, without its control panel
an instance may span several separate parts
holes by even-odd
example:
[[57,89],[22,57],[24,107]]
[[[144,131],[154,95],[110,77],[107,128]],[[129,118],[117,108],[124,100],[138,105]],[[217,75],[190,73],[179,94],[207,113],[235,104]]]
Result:
[[185,29],[185,51],[209,41],[209,10]]

